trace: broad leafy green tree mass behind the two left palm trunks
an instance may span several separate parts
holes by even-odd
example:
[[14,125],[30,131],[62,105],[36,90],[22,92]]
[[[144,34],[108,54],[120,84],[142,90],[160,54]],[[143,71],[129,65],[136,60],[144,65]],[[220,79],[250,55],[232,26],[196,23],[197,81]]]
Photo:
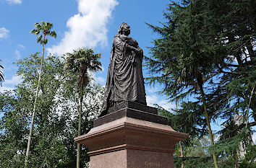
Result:
[[[64,69],[64,58],[48,56],[40,82],[33,143],[27,167],[76,167],[76,118],[80,91],[74,87],[77,75]],[[27,147],[27,134],[38,81],[40,56],[38,53],[17,61],[17,75],[22,77],[13,92],[0,94],[0,167],[23,167]],[[90,76],[89,76],[90,77]],[[49,80],[51,79],[51,80]],[[89,78],[84,88],[82,106],[82,133],[88,133],[93,120],[99,115],[103,87]],[[86,103],[85,103],[86,102]],[[89,162],[88,149],[82,147],[81,162]]]

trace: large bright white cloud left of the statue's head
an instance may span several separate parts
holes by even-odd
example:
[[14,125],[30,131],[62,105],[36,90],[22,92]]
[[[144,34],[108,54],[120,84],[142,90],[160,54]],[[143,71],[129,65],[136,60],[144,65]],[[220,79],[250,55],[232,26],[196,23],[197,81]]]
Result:
[[93,48],[107,43],[107,23],[116,0],[78,0],[78,14],[67,21],[69,30],[59,45],[48,48],[49,53],[67,53],[79,47]]

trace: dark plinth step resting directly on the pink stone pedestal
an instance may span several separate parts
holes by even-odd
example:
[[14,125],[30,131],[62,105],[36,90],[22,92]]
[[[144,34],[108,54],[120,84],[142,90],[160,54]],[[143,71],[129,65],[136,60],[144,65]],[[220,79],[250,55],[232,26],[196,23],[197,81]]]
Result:
[[[132,104],[132,105],[135,105],[135,104]],[[153,107],[148,107],[148,109],[149,108],[153,108]],[[99,125],[103,125],[105,123],[109,123],[111,121],[118,120],[118,119],[124,118],[124,117],[135,118],[135,119],[139,119],[139,120],[146,120],[146,121],[150,121],[153,123],[160,123],[163,125],[167,125],[167,122],[168,122],[167,118],[165,118],[163,116],[155,115],[150,112],[137,110],[136,107],[127,105],[123,108],[120,108],[116,112],[111,112],[108,115],[104,115],[103,117],[98,118],[97,120],[95,120],[93,122],[93,127],[97,127]]]

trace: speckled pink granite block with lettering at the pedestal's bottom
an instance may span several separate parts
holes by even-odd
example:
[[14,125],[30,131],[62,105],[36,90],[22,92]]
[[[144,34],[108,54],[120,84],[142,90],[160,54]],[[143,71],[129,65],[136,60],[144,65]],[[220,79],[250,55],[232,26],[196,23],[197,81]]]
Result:
[[172,153],[123,149],[111,153],[90,156],[92,168],[142,168],[174,167]]

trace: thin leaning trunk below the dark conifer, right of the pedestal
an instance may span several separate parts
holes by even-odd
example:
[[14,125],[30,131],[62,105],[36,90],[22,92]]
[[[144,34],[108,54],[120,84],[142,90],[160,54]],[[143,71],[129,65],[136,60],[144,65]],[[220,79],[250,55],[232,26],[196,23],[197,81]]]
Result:
[[[200,84],[200,83],[198,83],[198,84],[200,85],[199,87],[200,87],[200,92],[201,92],[201,95],[202,95],[202,105],[203,105],[203,108],[205,110],[205,119],[206,119],[206,123],[208,125],[208,132],[209,132],[209,136],[210,136],[210,145],[213,146],[214,145],[213,132],[212,132],[212,129],[210,128],[210,118],[209,118],[207,107],[206,107],[205,93],[203,92],[202,84]],[[217,157],[216,157],[216,154],[214,152],[213,152],[213,161],[214,161],[215,167],[218,168]]]

